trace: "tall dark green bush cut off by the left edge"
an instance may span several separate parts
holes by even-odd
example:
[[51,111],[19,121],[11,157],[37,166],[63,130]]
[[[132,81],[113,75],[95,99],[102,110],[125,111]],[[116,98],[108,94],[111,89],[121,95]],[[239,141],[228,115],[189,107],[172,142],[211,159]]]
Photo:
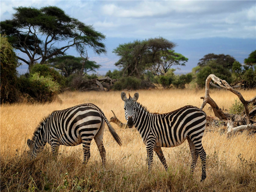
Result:
[[16,68],[19,66],[17,57],[7,38],[0,36],[0,55],[1,55],[1,100],[0,103],[13,103],[18,100]]

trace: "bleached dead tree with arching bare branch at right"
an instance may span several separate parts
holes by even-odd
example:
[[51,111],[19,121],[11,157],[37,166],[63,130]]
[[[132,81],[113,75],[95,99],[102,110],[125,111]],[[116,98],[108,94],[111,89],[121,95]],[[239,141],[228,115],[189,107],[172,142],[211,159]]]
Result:
[[[216,102],[210,97],[210,83],[211,80],[215,83],[218,84],[221,88],[227,89],[228,91],[231,91],[232,93],[236,94],[239,100],[243,103],[244,108],[245,108],[245,115],[244,116],[239,116],[236,114],[230,114],[230,113],[224,113],[221,108],[218,107]],[[229,120],[229,127],[228,130],[229,132],[232,132],[232,130],[242,130],[247,129],[248,125],[256,123],[251,119],[251,117],[256,115],[256,108],[252,109],[249,111],[248,104],[249,103],[255,103],[256,102],[256,95],[250,100],[245,100],[244,97],[240,92],[237,90],[233,89],[225,80],[222,80],[215,75],[211,74],[207,77],[205,81],[205,95],[204,97],[201,97],[203,99],[203,103],[201,105],[201,110],[203,110],[204,106],[208,103],[211,105],[212,110],[214,112],[214,115],[218,117],[220,120]],[[232,127],[231,123],[232,122]],[[237,126],[241,126],[239,129],[236,129]],[[235,127],[234,127],[235,126]],[[250,129],[256,130],[255,125],[250,125]]]

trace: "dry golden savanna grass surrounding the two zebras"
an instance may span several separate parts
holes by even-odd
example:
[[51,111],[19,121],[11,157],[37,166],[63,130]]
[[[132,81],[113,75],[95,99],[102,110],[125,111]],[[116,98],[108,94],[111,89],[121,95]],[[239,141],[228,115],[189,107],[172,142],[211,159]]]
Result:
[[[135,91],[131,92],[131,95]],[[200,107],[204,90],[148,90],[138,91],[138,102],[150,112],[167,113],[184,105]],[[167,172],[154,154],[153,169],[148,173],[146,148],[134,128],[122,129],[111,123],[123,141],[117,145],[107,126],[103,136],[106,166],[94,142],[91,158],[83,164],[82,145],[61,146],[54,158],[47,144],[34,160],[27,156],[26,140],[31,139],[37,124],[53,110],[61,110],[81,103],[94,103],[106,117],[116,116],[125,122],[121,92],[64,92],[62,103],[1,105],[1,191],[256,191],[256,135],[238,133],[227,138],[225,126],[206,127],[203,146],[207,154],[207,178],[201,179],[201,160],[190,174],[191,154],[188,142],[175,148],[163,148],[169,166]],[[246,100],[255,90],[241,91]],[[217,104],[229,109],[236,96],[225,90],[212,90]],[[207,115],[214,115],[204,107]]]

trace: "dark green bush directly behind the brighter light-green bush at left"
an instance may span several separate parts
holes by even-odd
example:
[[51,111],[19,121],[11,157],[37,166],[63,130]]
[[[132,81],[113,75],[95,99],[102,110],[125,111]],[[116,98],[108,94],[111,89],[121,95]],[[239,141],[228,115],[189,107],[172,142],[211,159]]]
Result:
[[31,68],[30,74],[35,74],[35,73],[38,73],[39,76],[44,76],[44,77],[51,76],[53,81],[56,81],[58,84],[60,85],[65,84],[65,79],[63,78],[63,76],[61,76],[58,71],[49,67],[46,64],[37,63],[36,65],[34,65],[33,68]]

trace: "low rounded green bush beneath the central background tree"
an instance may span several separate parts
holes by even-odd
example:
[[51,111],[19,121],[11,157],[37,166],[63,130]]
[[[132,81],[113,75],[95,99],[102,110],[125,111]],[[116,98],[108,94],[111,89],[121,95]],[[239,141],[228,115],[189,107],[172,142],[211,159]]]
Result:
[[141,84],[141,80],[136,77],[132,77],[132,76],[121,77],[113,85],[113,89],[115,91],[120,91],[123,89],[136,90],[136,89],[140,89],[140,84]]

